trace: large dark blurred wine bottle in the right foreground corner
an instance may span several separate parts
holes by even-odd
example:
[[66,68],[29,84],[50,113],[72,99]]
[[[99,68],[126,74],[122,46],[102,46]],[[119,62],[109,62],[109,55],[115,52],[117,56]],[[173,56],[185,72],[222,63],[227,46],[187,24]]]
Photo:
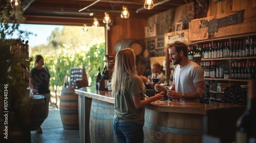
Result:
[[248,84],[246,110],[237,121],[236,143],[256,142],[256,80]]

